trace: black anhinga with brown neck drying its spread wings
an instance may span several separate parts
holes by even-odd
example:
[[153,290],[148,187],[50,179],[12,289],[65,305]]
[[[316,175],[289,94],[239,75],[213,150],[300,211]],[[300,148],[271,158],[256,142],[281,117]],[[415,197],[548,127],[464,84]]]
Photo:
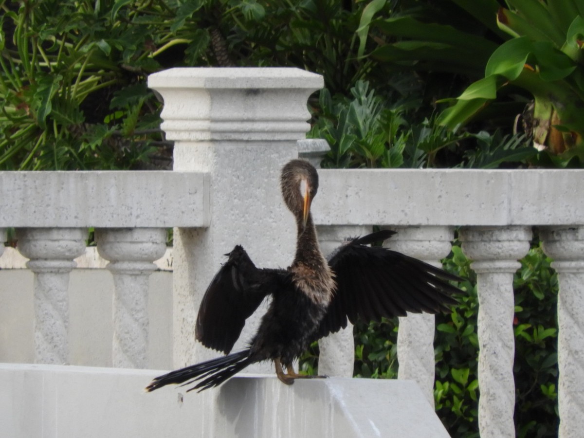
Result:
[[[197,340],[227,356],[157,377],[148,391],[194,381],[199,383],[189,391],[202,391],[262,360],[272,360],[277,377],[291,384],[307,377],[294,372],[294,359],[314,340],[345,328],[347,319],[378,321],[406,312],[446,311],[446,305],[456,304],[451,294],[460,291],[446,280],[458,277],[401,253],[366,246],[389,238],[393,231],[346,241],[327,261],[310,214],[317,189],[318,174],[311,164],[295,159],[284,166],[281,190],[298,228],[291,266],[259,269],[241,246],[235,246],[204,294],[196,326]],[[268,295],[272,301],[249,348],[229,354],[246,318]]]

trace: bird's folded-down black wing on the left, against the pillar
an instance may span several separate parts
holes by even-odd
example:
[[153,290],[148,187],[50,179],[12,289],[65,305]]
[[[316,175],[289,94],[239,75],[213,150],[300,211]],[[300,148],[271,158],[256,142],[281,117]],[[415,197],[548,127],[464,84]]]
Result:
[[258,269],[237,245],[207,287],[197,316],[196,338],[204,346],[229,353],[245,319],[277,288],[283,272]]

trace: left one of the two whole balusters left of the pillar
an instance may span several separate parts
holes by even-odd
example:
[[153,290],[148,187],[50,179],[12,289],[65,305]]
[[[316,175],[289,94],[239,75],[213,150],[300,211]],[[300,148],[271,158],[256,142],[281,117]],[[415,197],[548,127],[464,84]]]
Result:
[[20,228],[18,250],[34,272],[34,362],[64,364],[69,357],[69,272],[85,252],[82,228]]

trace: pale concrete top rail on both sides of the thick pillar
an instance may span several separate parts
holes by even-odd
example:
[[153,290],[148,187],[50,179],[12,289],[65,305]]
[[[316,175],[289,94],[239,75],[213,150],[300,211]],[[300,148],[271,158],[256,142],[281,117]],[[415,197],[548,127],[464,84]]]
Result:
[[[319,173],[320,225],[584,224],[579,169]],[[209,197],[210,178],[199,172],[0,172],[0,228],[206,227]]]

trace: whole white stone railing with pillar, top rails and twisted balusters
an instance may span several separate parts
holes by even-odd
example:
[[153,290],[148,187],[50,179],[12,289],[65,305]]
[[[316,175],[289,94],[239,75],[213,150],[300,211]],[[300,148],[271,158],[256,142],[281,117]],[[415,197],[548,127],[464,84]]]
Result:
[[[173,363],[214,356],[193,345],[194,320],[224,253],[242,244],[258,266],[287,266],[294,221],[281,202],[279,172],[297,157],[308,124],[305,102],[322,78],[296,69],[172,69],[149,85],[164,99],[162,128],[175,141],[173,172],[0,172],[0,241],[16,227],[34,272],[35,361],[66,363],[68,273],[95,227],[114,277],[113,364],[141,368],[148,350],[145,279],[173,248]],[[582,171],[321,170],[312,206],[328,252],[381,225],[388,244],[439,264],[461,227],[478,274],[479,427],[515,436],[513,273],[539,227],[555,259],[560,436],[584,427],[584,189]],[[0,248],[0,251],[2,249]],[[106,315],[104,318],[107,317]],[[169,321],[169,324],[171,321]],[[247,324],[235,349],[258,323]],[[418,381],[433,403],[434,318],[400,319],[399,377]],[[319,371],[350,376],[350,328],[321,342]],[[271,372],[270,364],[253,371]]]

